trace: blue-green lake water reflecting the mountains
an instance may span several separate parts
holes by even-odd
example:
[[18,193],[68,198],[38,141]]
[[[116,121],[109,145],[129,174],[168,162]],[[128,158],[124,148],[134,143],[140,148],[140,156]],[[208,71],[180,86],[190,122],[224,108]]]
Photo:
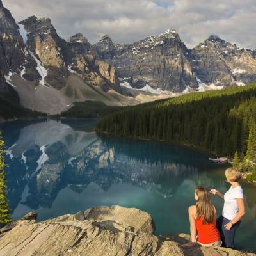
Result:
[[[189,233],[194,188],[227,191],[227,165],[202,151],[148,141],[97,136],[95,120],[15,121],[0,124],[8,147],[6,179],[13,219],[29,211],[38,220],[122,205],[149,212],[156,234]],[[255,248],[256,187],[242,182],[246,216],[239,248]],[[223,202],[212,196],[218,214]]]

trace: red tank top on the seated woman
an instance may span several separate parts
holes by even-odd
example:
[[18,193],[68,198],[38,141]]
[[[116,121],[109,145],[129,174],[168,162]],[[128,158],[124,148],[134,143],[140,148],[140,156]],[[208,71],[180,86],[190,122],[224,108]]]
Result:
[[201,244],[210,244],[220,240],[220,233],[216,228],[216,220],[212,223],[203,224],[204,216],[196,220],[196,230],[198,234],[198,242]]

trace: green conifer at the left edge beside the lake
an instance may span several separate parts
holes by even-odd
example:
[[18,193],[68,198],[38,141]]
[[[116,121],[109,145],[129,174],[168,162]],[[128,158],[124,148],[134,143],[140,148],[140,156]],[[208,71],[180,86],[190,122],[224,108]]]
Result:
[[6,198],[6,180],[5,180],[5,171],[4,167],[4,141],[2,140],[0,132],[0,223],[10,223],[12,218],[10,216],[10,207],[8,205],[8,200]]

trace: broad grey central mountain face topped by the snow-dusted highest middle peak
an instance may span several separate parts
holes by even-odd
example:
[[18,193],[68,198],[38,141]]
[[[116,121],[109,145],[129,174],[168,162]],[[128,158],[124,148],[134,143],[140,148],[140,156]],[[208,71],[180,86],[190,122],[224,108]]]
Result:
[[108,35],[93,45],[97,58],[115,65],[133,88],[149,84],[172,92],[197,86],[189,51],[174,29],[129,45],[113,44]]

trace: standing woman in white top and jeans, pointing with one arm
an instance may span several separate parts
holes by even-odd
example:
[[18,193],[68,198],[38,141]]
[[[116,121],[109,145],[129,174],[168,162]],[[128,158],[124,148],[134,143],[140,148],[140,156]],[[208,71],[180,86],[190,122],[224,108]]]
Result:
[[216,227],[220,231],[223,246],[234,248],[236,228],[245,214],[243,189],[239,184],[242,175],[237,168],[228,168],[225,175],[227,182],[231,184],[230,189],[224,195],[216,189],[210,189],[210,193],[224,199],[222,215],[218,218]]

